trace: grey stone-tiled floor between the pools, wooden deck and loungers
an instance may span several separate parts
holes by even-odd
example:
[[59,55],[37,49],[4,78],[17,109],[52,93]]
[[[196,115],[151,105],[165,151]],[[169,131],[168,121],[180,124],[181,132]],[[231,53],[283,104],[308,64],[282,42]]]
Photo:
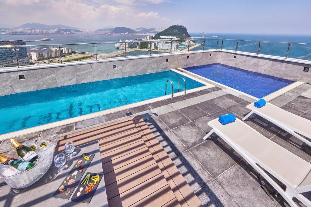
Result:
[[[205,81],[205,79],[202,79]],[[213,84],[213,83],[212,83]],[[220,137],[204,141],[207,122],[233,113],[242,119],[253,100],[216,84],[214,88],[114,112],[39,133],[70,133],[135,115],[143,119],[204,206],[288,206],[281,196],[271,200],[256,172]],[[311,120],[311,85],[303,84],[270,103]],[[255,115],[245,121],[259,133],[311,162],[302,142]],[[6,143],[2,143],[6,144]],[[306,194],[309,197],[309,193]],[[311,196],[310,196],[311,197]]]

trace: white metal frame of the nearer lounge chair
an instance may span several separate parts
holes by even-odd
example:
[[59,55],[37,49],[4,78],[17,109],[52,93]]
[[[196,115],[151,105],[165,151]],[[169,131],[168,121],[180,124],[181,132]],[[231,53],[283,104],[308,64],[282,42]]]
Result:
[[[239,119],[236,119],[236,121],[242,122]],[[243,122],[242,122],[243,123]],[[239,147],[236,143],[234,143],[232,140],[230,140],[229,137],[227,137],[225,134],[223,134],[220,130],[217,130],[217,128],[215,126],[213,126],[211,124],[211,122],[207,123],[212,130],[207,133],[207,135],[205,135],[203,137],[204,140],[207,140],[209,136],[211,136],[212,133],[216,133],[219,137],[221,137],[228,145],[230,145],[236,152],[239,153],[239,155],[241,155],[244,160],[246,160],[254,169],[257,170],[258,173],[260,173],[262,175],[263,178],[265,178],[275,189],[276,191],[278,191],[281,196],[283,196],[283,198],[291,205],[291,206],[297,206],[296,203],[292,200],[293,197],[297,198],[298,200],[300,200],[301,202],[304,203],[304,205],[306,206],[311,206],[311,201],[308,200],[306,197],[304,197],[301,193],[303,192],[308,192],[311,191],[311,186],[304,186],[304,187],[296,187],[296,186],[292,186],[291,184],[289,184],[288,182],[286,182],[284,179],[282,179],[279,175],[277,175],[276,173],[274,173],[271,169],[269,169],[267,166],[265,166],[264,164],[262,164],[259,160],[257,160],[255,157],[253,157],[252,155],[250,155],[248,152],[246,152],[245,150],[243,150],[241,147]],[[245,123],[243,123],[245,124]],[[251,128],[250,126],[248,126],[247,124],[245,124],[247,127]],[[251,128],[252,130],[254,130],[253,128]],[[256,131],[256,130],[254,130]],[[257,132],[257,131],[256,131]],[[258,133],[258,132],[257,132]],[[260,133],[258,133],[260,134]],[[261,134],[260,134],[261,135]],[[263,136],[263,135],[261,135]],[[279,181],[281,181],[285,186],[286,186],[286,190],[284,191],[276,182],[273,181],[272,178],[270,178],[270,176],[265,173],[264,170],[262,170],[260,167],[262,167],[262,169],[266,170],[268,173],[272,174],[276,179],[278,179]],[[297,206],[298,207],[298,206]]]

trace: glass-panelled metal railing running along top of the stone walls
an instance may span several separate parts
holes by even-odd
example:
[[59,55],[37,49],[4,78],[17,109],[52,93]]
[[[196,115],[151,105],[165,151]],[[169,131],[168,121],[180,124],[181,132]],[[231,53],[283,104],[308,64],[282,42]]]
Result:
[[[151,44],[154,42],[164,42],[170,47],[167,47],[167,50],[157,50],[151,49]],[[188,41],[186,43],[186,41]],[[191,43],[193,41],[193,43]],[[148,43],[147,47],[139,48],[138,45],[142,45],[143,43]],[[176,50],[176,47],[172,47],[173,43],[179,43],[179,46],[184,45],[183,48],[179,48]],[[121,44],[121,50],[116,50],[114,44]],[[11,54],[11,57],[15,55],[16,65],[18,68],[20,67],[21,59],[27,58],[25,56],[19,57],[21,50],[26,50],[26,47],[34,48],[34,47],[45,47],[49,48],[53,46],[58,49],[58,56],[43,58],[43,60],[34,61],[35,64],[39,64],[42,61],[44,63],[50,62],[63,62],[67,61],[79,61],[84,59],[93,59],[98,61],[99,59],[104,58],[113,58],[113,57],[128,57],[135,56],[136,54],[132,54],[133,51],[141,51],[138,55],[149,55],[158,54],[162,52],[167,53],[176,53],[176,52],[191,52],[191,51],[205,51],[205,50],[232,50],[235,52],[249,52],[257,55],[272,55],[272,56],[280,56],[287,58],[295,58],[301,60],[311,61],[311,44],[310,43],[289,43],[289,42],[272,42],[272,41],[254,41],[254,40],[236,40],[236,39],[221,39],[221,38],[200,38],[193,40],[168,40],[168,39],[160,39],[160,40],[147,40],[147,41],[130,41],[130,42],[99,42],[99,43],[68,43],[68,44],[40,44],[40,45],[2,45],[1,49],[7,49],[7,52],[14,51]],[[25,47],[25,49],[23,49]],[[69,58],[61,52],[64,47],[71,47],[74,51],[79,51],[80,56],[77,55],[76,58]],[[108,52],[107,52],[108,51]],[[25,51],[24,51],[25,52]],[[85,53],[85,54],[81,54]],[[79,54],[79,53],[78,53]],[[75,56],[73,56],[75,57]],[[52,60],[52,61],[51,61]],[[0,59],[0,67],[1,66],[12,66],[5,61],[1,61]]]

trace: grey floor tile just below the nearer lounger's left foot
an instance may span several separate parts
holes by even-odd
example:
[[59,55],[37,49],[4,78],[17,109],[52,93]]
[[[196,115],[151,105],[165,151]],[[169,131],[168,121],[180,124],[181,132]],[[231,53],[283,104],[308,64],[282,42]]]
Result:
[[203,167],[216,178],[233,166],[237,160],[230,157],[213,140],[207,140],[189,150]]

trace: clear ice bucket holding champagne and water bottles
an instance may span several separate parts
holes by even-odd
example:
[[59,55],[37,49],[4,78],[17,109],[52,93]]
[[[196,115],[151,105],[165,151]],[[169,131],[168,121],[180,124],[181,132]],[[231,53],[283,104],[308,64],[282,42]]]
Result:
[[[44,136],[45,141],[48,142],[49,148],[45,151],[39,151],[39,158],[32,168],[22,171],[21,173],[2,177],[9,186],[12,188],[24,188],[37,182],[48,171],[53,161],[54,149],[57,145],[57,136],[54,134]],[[9,151],[6,156],[18,159],[18,155],[15,149]]]

